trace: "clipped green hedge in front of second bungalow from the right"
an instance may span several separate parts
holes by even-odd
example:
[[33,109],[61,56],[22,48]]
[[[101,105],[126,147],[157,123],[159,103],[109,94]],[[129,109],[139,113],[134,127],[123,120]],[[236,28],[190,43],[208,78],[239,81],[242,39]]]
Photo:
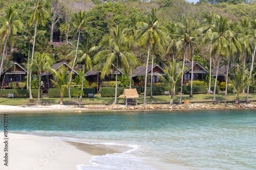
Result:
[[[182,91],[184,94],[190,94],[191,86],[183,86]],[[208,86],[193,86],[193,94],[204,94],[207,92]],[[214,86],[210,87],[211,91],[214,91]],[[216,93],[220,92],[220,86],[216,87]]]

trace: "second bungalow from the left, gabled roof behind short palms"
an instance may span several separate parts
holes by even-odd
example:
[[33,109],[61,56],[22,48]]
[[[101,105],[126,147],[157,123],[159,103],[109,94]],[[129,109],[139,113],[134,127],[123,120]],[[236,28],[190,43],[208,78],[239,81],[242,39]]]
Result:
[[[58,70],[60,68],[60,66],[62,66],[62,65],[64,65],[65,67],[68,68],[67,74],[68,75],[71,74],[72,67],[70,67],[69,64],[67,64],[64,61],[53,64],[52,68],[55,69],[55,70]],[[73,72],[74,72],[74,75],[79,75],[78,72],[76,72],[75,70]],[[52,74],[51,71],[49,71],[49,72],[44,71],[41,75],[41,81],[43,82],[43,84],[41,86],[42,92],[46,92],[46,90],[48,88],[52,87],[52,83],[50,82],[50,80],[56,80],[54,75]],[[48,82],[49,82],[49,86],[48,86]]]

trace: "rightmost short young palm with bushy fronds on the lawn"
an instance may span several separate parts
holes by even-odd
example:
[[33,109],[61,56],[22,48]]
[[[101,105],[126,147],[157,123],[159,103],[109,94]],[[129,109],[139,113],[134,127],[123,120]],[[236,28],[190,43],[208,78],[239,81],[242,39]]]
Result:
[[[225,75],[225,74],[224,74]],[[239,104],[239,94],[242,92],[243,88],[250,84],[250,79],[246,78],[247,72],[237,65],[236,71],[232,70],[232,79],[225,75],[226,79],[229,80],[231,86],[236,90],[237,99],[236,103]]]

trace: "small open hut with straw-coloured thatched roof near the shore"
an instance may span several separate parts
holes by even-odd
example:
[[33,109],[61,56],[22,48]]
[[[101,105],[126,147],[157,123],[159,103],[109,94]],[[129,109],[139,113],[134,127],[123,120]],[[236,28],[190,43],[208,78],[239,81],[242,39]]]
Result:
[[136,88],[123,89],[123,94],[119,95],[119,98],[124,98],[124,104],[127,105],[137,105],[137,98],[139,94]]

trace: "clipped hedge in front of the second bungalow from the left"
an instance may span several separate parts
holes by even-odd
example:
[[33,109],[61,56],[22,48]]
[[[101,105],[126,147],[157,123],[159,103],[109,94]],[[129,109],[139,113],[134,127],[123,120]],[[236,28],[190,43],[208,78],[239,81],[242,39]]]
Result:
[[[73,96],[72,95],[73,94],[73,90],[74,90],[74,88],[70,89],[71,96]],[[95,88],[84,88],[83,89],[83,93],[84,93],[83,97],[88,97],[88,93],[95,94]],[[49,98],[59,98],[59,94],[60,94],[60,92],[59,92],[58,88],[50,88],[48,90]],[[64,96],[63,97],[64,98],[68,98],[69,97],[69,90],[68,89],[64,92]]]

